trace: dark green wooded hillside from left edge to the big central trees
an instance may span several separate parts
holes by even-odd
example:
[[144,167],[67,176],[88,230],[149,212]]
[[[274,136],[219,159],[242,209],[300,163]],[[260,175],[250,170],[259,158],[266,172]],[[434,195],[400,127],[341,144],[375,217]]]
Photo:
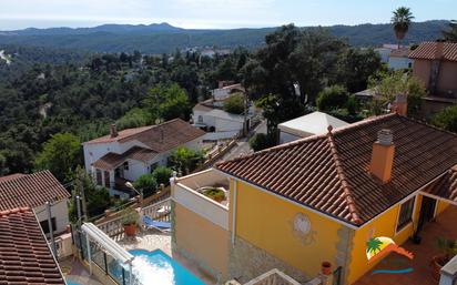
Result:
[[[351,48],[321,29],[282,27],[265,41],[258,51],[236,49],[215,58],[0,45],[10,61],[0,60],[0,175],[49,169],[40,153],[54,134],[55,145],[79,145],[106,134],[113,122],[124,129],[177,116],[189,120],[193,104],[207,98],[220,80],[245,83],[275,128],[280,120],[303,114],[327,85],[358,91],[382,70],[373,50]],[[297,82],[307,101],[291,94]],[[273,95],[282,99],[270,102]]]

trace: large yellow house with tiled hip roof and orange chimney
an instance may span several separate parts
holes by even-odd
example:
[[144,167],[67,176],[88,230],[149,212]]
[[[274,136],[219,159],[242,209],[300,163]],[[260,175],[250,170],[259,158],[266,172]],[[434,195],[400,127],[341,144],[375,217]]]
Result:
[[377,264],[370,238],[418,241],[457,205],[455,165],[457,135],[406,116],[329,128],[174,179],[173,251],[219,283],[278,268],[303,284],[328,262],[353,284]]

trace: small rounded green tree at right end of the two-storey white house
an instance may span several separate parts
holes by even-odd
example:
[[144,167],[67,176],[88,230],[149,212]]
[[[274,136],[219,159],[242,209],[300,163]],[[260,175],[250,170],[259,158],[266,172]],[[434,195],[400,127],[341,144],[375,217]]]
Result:
[[194,171],[203,160],[203,151],[194,151],[185,146],[180,146],[170,155],[169,165],[181,174],[189,174]]

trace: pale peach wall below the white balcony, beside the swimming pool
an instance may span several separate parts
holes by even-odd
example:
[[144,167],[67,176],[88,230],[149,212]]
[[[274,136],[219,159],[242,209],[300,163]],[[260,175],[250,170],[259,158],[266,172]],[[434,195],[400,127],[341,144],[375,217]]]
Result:
[[177,248],[225,276],[228,263],[227,231],[177,203],[174,215]]

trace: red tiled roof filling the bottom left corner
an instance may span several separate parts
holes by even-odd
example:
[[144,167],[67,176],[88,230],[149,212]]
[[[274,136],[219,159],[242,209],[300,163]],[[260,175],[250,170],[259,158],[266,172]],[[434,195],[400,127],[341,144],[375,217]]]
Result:
[[48,242],[33,212],[14,208],[0,212],[0,284],[62,284]]

